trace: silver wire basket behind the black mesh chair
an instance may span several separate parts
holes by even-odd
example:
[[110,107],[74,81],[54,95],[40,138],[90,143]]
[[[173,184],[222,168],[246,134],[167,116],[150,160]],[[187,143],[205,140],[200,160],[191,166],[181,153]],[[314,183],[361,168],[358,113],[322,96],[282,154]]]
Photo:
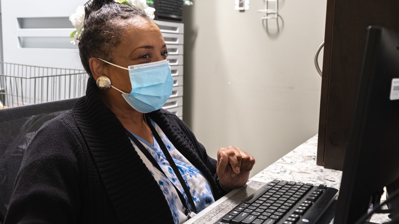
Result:
[[85,95],[87,73],[0,62],[0,108],[23,106]]

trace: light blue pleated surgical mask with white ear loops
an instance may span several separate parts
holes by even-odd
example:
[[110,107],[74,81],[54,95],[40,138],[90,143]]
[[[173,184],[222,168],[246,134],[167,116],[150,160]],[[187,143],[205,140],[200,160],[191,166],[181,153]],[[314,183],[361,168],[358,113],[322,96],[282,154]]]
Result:
[[[108,61],[104,62],[114,65]],[[122,97],[134,110],[142,113],[159,110],[172,94],[173,78],[168,60],[131,65],[128,68],[114,66],[129,71],[132,92],[126,93],[112,85],[111,87],[121,92]]]

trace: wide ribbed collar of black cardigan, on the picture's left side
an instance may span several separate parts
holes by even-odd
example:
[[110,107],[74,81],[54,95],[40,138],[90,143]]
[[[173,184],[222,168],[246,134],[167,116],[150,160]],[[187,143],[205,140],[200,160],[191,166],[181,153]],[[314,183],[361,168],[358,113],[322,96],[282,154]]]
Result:
[[[120,222],[173,223],[172,213],[165,210],[169,206],[162,190],[134,150],[125,128],[103,103],[92,77],[73,114]],[[154,210],[151,217],[134,212],[145,207]]]

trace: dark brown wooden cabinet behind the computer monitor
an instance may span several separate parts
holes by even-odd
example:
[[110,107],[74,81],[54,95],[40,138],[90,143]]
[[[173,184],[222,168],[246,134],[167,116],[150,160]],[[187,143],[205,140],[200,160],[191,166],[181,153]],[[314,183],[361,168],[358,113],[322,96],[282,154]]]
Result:
[[399,30],[399,1],[327,0],[317,165],[342,170],[368,26]]

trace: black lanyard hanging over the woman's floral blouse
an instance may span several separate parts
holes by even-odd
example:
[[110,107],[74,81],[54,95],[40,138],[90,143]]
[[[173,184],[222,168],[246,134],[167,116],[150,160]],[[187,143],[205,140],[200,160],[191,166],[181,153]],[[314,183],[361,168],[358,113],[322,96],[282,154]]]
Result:
[[[148,117],[147,117],[148,118]],[[149,120],[149,119],[148,119]],[[187,195],[188,201],[191,204],[191,207],[194,209],[194,212],[197,213],[197,208],[194,204],[194,200],[193,197],[190,193],[190,191],[188,190],[188,187],[186,185],[186,182],[184,181],[182,174],[180,173],[179,169],[176,166],[176,163],[173,161],[172,156],[170,155],[168,149],[166,149],[166,146],[164,144],[164,142],[162,141],[161,137],[159,136],[158,132],[156,132],[155,128],[152,126],[151,122],[150,124],[148,124],[148,126],[150,127],[150,130],[152,132],[152,134],[155,137],[155,140],[158,142],[158,145],[160,146],[162,152],[164,153],[166,160],[168,160],[170,166],[172,167],[174,173],[176,174],[178,180],[180,181],[180,184],[183,187],[184,192]],[[166,176],[166,174],[164,173],[164,171],[162,170],[162,168],[160,167],[160,165],[156,162],[156,160],[154,159],[154,157],[152,157],[151,153],[148,152],[148,150],[144,147],[144,145],[142,145],[142,143],[140,143],[140,141],[137,140],[136,137],[134,137],[128,130],[126,130],[128,136],[133,140],[134,144],[136,144],[136,146],[140,149],[140,151],[147,157],[147,159],[159,170],[162,172],[162,174],[165,175],[166,178],[168,178],[168,176]],[[172,182],[171,182],[172,183]],[[180,200],[182,201],[182,204],[184,205],[184,207],[186,207],[186,215],[190,214],[190,210],[188,209],[187,203],[186,203],[186,199],[184,198],[183,194],[180,192],[180,190],[172,183],[173,187],[176,189]]]

